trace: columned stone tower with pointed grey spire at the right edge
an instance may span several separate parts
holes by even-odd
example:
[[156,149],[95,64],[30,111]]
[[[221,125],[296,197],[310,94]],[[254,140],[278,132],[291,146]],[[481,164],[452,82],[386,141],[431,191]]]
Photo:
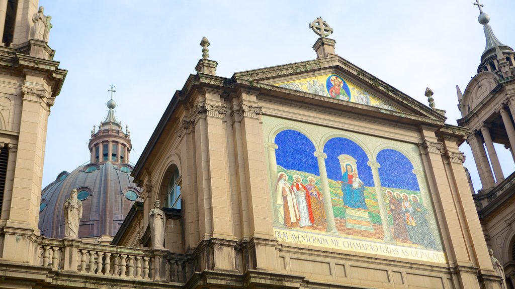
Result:
[[[479,6],[481,7],[481,6]],[[494,143],[504,145],[515,160],[515,52],[501,43],[480,8],[486,48],[477,74],[465,92],[458,88],[459,125],[470,129],[472,149],[482,188],[474,201],[488,246],[504,266],[508,288],[515,286],[515,174],[502,171]],[[486,147],[486,150],[485,150]],[[499,148],[499,147],[498,147]],[[492,172],[493,171],[493,172]]]

